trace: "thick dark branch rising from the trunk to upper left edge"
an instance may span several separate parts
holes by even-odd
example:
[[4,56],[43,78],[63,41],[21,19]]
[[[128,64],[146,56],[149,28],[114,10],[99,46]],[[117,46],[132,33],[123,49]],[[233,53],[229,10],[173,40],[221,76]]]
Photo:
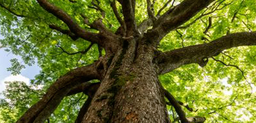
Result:
[[74,33],[75,35],[81,37],[82,39],[99,43],[99,34],[92,33],[85,31],[82,29],[66,12],[64,12],[62,9],[59,9],[58,7],[55,7],[50,2],[47,2],[47,0],[37,0],[39,5],[43,7],[46,11],[53,14],[60,20],[62,20],[66,25],[69,27],[70,31]]

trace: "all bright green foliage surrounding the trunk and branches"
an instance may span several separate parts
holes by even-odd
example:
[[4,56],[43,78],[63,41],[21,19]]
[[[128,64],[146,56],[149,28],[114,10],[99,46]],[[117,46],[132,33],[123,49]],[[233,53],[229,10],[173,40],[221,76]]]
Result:
[[[90,17],[92,22],[100,17],[100,11],[90,9],[90,0],[49,0],[66,11],[75,21],[86,30],[96,32],[83,23],[81,13]],[[156,0],[154,9],[158,11],[168,0]],[[182,0],[176,0],[178,5]],[[116,31],[120,26],[116,20],[109,0],[101,0],[101,7],[106,11],[103,23],[109,30]],[[30,85],[24,82],[8,82],[4,92],[5,99],[0,102],[0,119],[5,123],[14,123],[28,107],[36,103],[43,92],[57,78],[73,68],[90,64],[97,60],[99,52],[93,45],[86,54],[68,55],[67,52],[85,50],[90,43],[82,39],[72,41],[67,35],[51,30],[48,25],[55,24],[64,29],[68,27],[52,14],[43,10],[36,0],[0,0],[0,3],[19,15],[15,16],[6,9],[0,8],[1,34],[5,37],[0,43],[15,55],[22,57],[22,62],[12,59],[12,67],[8,71],[19,74],[24,64],[32,65],[36,59],[42,68]],[[173,31],[162,39],[159,50],[168,51],[183,46],[207,43],[214,39],[233,32],[248,32],[256,30],[256,1],[255,0],[218,0],[220,8],[211,14],[201,17],[190,27]],[[146,0],[137,0],[136,23],[147,18]],[[121,6],[118,5],[119,13]],[[209,7],[205,13],[212,11]],[[164,11],[166,11],[165,9]],[[197,19],[203,11],[184,24],[187,25]],[[164,12],[163,11],[163,12]],[[162,13],[163,13],[162,12]],[[212,25],[208,32],[209,17]],[[234,18],[234,19],[233,19]],[[161,75],[160,81],[175,98],[189,105],[196,112],[184,110],[187,116],[205,116],[207,123],[253,123],[256,121],[256,47],[239,47],[225,50],[214,57],[225,64],[238,66],[225,66],[221,62],[209,59],[204,68],[197,64],[190,64]],[[241,72],[241,71],[242,72]],[[246,78],[246,79],[245,79]],[[34,87],[43,85],[38,90]],[[50,117],[52,123],[72,123],[77,115],[84,95],[76,94],[66,97]],[[175,119],[177,114],[168,106],[170,118]]]

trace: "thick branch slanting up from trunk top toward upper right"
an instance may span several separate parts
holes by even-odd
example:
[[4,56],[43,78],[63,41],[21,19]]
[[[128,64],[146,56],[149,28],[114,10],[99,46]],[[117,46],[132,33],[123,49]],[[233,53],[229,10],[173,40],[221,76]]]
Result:
[[149,35],[153,35],[155,46],[171,30],[184,24],[214,0],[184,0],[174,8],[170,8],[154,23]]

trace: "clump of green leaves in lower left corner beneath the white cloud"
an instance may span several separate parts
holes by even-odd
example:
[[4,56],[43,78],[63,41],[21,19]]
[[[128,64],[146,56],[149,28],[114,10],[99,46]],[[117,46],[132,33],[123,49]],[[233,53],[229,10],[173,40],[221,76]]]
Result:
[[[7,84],[0,99],[0,116],[4,123],[14,123],[26,110],[43,95],[40,89],[28,86],[25,82],[5,82]],[[1,120],[1,118],[0,118]]]

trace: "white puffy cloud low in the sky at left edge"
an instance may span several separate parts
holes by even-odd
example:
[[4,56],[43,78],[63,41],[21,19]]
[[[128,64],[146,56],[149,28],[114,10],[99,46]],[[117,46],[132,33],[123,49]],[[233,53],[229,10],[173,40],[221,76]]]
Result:
[[[8,77],[5,77],[5,79],[0,80],[0,93],[5,90],[5,82],[13,81],[22,81],[25,82],[27,85],[29,84],[29,79],[27,77],[24,77],[22,75],[9,75]],[[1,94],[0,98],[3,98]]]

